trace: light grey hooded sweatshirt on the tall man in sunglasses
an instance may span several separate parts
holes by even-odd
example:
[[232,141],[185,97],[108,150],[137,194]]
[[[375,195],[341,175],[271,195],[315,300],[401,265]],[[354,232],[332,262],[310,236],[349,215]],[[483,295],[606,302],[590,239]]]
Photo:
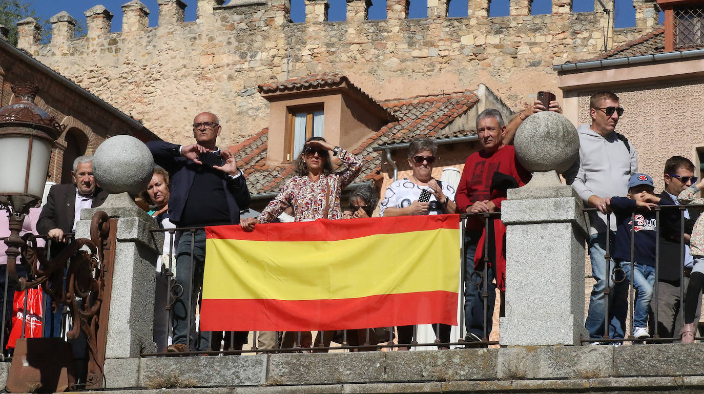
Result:
[[[577,191],[579,197],[586,201],[596,194],[601,198],[626,196],[628,180],[631,174],[638,172],[638,153],[630,144],[618,139],[615,132],[601,136],[589,125],[577,128],[579,134],[579,159],[567,170],[563,177],[567,184]],[[616,231],[616,217],[611,214],[610,227]],[[605,233],[606,215],[601,212],[589,212],[589,234]]]

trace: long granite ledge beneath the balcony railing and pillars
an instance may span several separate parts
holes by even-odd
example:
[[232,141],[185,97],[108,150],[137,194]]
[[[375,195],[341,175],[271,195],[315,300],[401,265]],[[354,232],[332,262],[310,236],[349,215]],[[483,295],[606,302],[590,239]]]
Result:
[[[702,344],[529,346],[144,357],[108,360],[106,372],[110,388],[119,388],[118,382],[122,382],[127,390],[121,393],[135,394],[701,393],[703,356]],[[8,366],[6,363],[5,371]],[[138,372],[132,372],[135,370]],[[6,377],[1,372],[0,378]],[[148,386],[172,373],[182,381],[190,380],[196,388],[130,389]]]

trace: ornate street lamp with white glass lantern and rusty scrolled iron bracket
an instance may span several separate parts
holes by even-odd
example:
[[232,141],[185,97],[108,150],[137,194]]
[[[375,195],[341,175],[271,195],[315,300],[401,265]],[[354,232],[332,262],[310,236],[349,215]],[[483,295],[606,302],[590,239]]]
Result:
[[[20,237],[25,215],[42,202],[51,148],[64,127],[34,103],[39,91],[37,85],[15,84],[12,91],[15,103],[0,108],[0,209],[8,212],[10,228],[10,236],[5,239],[8,283],[17,290],[42,285],[55,307],[68,305],[73,329],[66,333],[66,337],[77,338],[79,331],[83,331],[88,338],[85,387],[100,388],[103,386],[109,312],[109,307],[103,309],[101,305],[109,305],[110,300],[117,220],[109,219],[103,211],[96,212],[90,227],[91,239],[74,239],[51,261],[46,260],[42,248],[36,248],[32,234]],[[88,251],[81,250],[84,246]],[[15,263],[20,248],[27,265],[28,280],[17,276]],[[28,341],[33,345],[27,345]],[[57,339],[18,339],[18,344],[23,345],[17,346],[8,373],[7,388],[11,393],[26,393],[36,387],[49,392],[74,387],[75,382],[61,372],[65,367],[61,362],[30,365],[20,362],[71,360],[70,348],[67,352],[65,347],[52,344],[52,341]],[[46,379],[46,376],[54,378]]]

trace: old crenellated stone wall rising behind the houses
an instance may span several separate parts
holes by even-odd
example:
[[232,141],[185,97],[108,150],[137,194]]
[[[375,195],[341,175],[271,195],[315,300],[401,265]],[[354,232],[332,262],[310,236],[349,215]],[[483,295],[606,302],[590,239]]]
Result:
[[604,42],[610,49],[657,22],[650,0],[633,0],[643,16],[626,30],[614,30],[613,13],[601,6],[572,13],[569,0],[553,0],[546,15],[530,15],[530,1],[511,0],[501,18],[487,16],[487,0],[470,0],[467,18],[448,18],[448,1],[430,0],[425,19],[408,19],[406,0],[387,0],[386,20],[365,20],[370,2],[348,0],[343,22],[326,21],[325,0],[306,0],[305,23],[290,22],[289,0],[190,1],[196,21],[183,22],[183,1],[159,0],[159,25],[146,27],[149,10],[132,0],[114,33],[110,11],[96,6],[85,13],[81,38],[73,37],[75,20],[61,15],[52,19],[60,34],[46,45],[25,20],[20,46],[163,139],[190,141],[194,115],[209,110],[222,120],[221,140],[235,144],[268,125],[256,86],[287,75],[342,72],[379,100],[481,82],[517,109],[539,90],[560,96],[553,64],[596,56]]

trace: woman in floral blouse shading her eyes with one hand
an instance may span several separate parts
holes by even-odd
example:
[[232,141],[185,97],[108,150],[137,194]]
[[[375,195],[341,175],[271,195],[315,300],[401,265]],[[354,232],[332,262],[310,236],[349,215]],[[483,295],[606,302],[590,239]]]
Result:
[[[330,152],[340,158],[347,169],[332,172]],[[291,206],[294,208],[294,222],[309,222],[316,219],[342,219],[340,194],[342,190],[359,175],[362,162],[355,155],[339,146],[328,144],[325,139],[314,136],[303,147],[296,163],[296,176],[287,180],[281,192],[276,196],[256,219],[249,217],[241,220],[244,231],[253,231],[256,224],[273,222],[281,212]],[[322,331],[315,338],[315,343],[322,341],[329,346],[333,332],[325,331],[324,340],[320,339]],[[302,333],[301,347],[310,346],[310,333]],[[284,336],[284,342],[287,338]],[[325,350],[327,351],[327,350]]]

